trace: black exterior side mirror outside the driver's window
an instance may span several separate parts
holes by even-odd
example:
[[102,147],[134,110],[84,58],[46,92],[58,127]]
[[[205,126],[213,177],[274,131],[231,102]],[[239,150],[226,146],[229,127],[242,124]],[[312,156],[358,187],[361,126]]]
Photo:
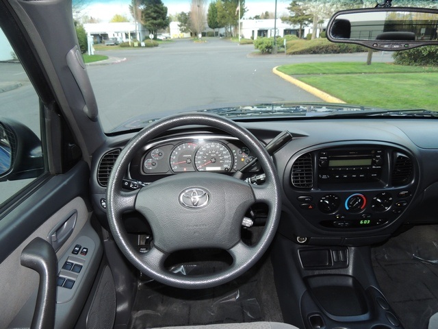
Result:
[[44,173],[41,141],[28,127],[0,118],[0,181],[37,178]]

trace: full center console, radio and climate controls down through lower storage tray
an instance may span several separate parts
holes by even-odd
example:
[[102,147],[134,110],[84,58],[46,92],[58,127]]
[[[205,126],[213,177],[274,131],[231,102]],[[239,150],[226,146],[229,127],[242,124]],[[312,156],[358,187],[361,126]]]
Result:
[[308,329],[402,328],[379,289],[370,245],[387,239],[413,204],[411,151],[381,142],[314,145],[289,159],[283,186],[271,258],[285,321]]

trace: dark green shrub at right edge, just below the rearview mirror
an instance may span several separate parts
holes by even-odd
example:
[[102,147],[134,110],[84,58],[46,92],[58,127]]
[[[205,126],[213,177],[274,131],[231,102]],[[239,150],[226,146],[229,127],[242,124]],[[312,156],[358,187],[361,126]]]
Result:
[[438,49],[435,46],[396,51],[392,56],[394,58],[394,64],[438,66]]

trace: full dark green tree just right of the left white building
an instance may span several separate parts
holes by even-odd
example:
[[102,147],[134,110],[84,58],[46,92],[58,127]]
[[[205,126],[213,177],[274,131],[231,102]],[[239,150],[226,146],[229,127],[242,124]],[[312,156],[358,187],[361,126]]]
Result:
[[167,7],[162,0],[143,0],[141,8],[142,24],[155,36],[157,36],[159,29],[165,29],[169,26]]

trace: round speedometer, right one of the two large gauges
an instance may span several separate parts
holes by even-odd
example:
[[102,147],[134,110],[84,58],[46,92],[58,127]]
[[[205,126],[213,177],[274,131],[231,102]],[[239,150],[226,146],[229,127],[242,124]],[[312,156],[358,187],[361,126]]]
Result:
[[233,158],[227,146],[219,142],[209,142],[196,151],[194,163],[198,171],[230,171]]

